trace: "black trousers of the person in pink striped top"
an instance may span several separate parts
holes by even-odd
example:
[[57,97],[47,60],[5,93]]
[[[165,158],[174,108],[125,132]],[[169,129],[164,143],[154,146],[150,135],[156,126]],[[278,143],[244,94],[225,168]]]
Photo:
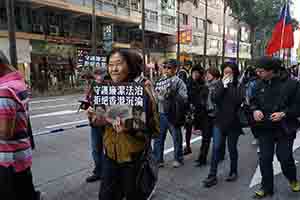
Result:
[[0,198],[3,200],[38,200],[31,169],[16,173],[12,167],[0,167]]

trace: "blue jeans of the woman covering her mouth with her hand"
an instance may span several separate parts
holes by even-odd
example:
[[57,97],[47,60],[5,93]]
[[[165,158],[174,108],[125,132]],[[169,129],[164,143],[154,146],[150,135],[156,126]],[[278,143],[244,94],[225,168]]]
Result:
[[[225,136],[226,135],[226,136]],[[218,172],[218,163],[222,158],[222,141],[227,139],[229,157],[230,157],[230,174],[237,174],[238,171],[238,139],[240,133],[237,130],[231,130],[230,133],[222,133],[220,128],[213,128],[213,153],[210,166],[210,176],[216,176]]]

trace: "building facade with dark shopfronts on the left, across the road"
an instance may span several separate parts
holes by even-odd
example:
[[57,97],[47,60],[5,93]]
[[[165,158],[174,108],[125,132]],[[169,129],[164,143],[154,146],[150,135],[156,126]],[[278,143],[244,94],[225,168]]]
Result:
[[[89,66],[105,67],[103,29],[112,46],[130,48],[141,24],[138,0],[96,0],[97,57],[91,58],[92,0],[15,1],[18,68],[33,89],[75,87]],[[9,54],[5,1],[0,1],[0,48]]]

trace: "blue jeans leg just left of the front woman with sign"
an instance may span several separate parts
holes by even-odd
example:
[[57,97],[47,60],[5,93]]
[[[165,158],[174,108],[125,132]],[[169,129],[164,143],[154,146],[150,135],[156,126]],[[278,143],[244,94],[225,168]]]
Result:
[[95,163],[93,173],[100,177],[102,175],[103,165],[103,137],[101,128],[91,127],[91,148],[92,157]]

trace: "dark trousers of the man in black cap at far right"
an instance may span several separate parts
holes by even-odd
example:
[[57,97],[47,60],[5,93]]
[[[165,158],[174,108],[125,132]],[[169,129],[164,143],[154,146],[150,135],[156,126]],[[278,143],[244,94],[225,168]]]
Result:
[[264,131],[258,135],[260,156],[259,166],[262,175],[262,188],[273,192],[273,157],[276,146],[276,156],[280,162],[282,173],[289,181],[297,180],[295,160],[293,157],[293,138],[277,139],[274,131]]

